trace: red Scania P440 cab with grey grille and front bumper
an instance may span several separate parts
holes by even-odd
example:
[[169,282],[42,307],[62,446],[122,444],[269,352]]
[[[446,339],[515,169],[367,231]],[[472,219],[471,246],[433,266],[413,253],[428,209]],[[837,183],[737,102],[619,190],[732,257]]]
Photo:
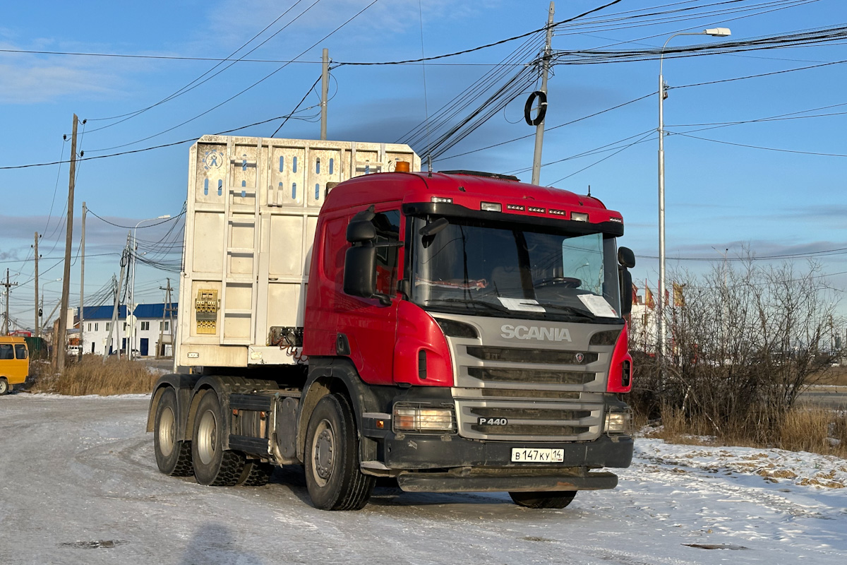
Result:
[[588,469],[632,457],[621,235],[595,198],[500,175],[348,180],[318,220],[310,371],[363,381],[404,490],[610,488]]

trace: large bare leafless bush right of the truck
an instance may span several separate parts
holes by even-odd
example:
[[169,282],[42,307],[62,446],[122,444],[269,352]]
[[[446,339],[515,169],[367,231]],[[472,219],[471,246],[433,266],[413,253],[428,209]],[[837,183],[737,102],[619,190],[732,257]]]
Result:
[[819,266],[748,258],[675,279],[683,300],[665,310],[668,356],[637,358],[634,406],[648,418],[681,410],[718,437],[778,443],[810,375],[840,355],[829,339],[836,300]]

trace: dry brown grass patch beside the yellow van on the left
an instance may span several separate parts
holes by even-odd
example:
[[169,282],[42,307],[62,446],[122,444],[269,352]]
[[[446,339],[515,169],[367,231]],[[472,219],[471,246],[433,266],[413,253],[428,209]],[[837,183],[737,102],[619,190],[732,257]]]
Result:
[[125,359],[103,361],[97,355],[85,355],[80,363],[70,363],[64,374],[55,374],[48,366],[38,369],[29,389],[70,396],[140,394],[152,391],[158,375],[146,366]]

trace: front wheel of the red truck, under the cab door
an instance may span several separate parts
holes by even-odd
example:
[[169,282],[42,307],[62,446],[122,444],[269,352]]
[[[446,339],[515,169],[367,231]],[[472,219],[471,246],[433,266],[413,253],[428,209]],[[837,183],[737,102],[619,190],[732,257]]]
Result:
[[359,470],[359,440],[350,402],[324,396],[315,406],[306,434],[306,487],[321,510],[361,510],[375,478]]

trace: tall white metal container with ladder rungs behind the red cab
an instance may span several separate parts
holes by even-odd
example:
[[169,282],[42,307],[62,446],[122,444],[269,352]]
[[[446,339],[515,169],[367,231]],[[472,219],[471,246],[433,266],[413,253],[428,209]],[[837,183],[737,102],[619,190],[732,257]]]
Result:
[[390,172],[397,161],[420,170],[407,145],[202,136],[189,158],[174,364],[295,363],[268,335],[303,326],[328,183]]

